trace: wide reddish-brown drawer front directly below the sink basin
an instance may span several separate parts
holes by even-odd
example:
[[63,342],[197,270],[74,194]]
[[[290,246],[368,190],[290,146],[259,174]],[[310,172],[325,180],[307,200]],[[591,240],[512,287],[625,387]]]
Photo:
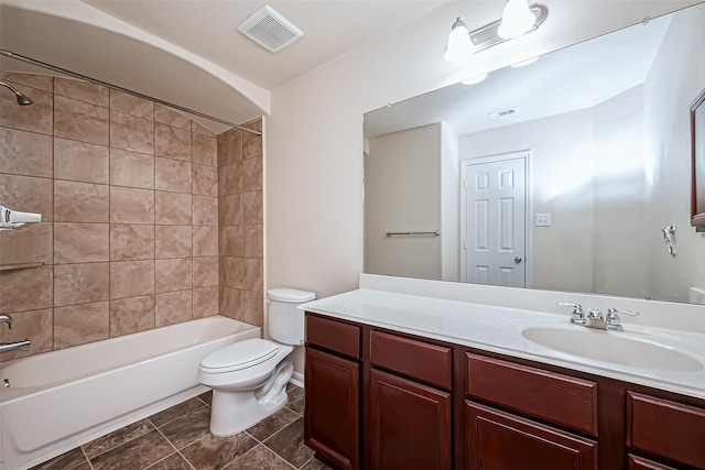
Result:
[[597,383],[467,354],[467,394],[597,436]]

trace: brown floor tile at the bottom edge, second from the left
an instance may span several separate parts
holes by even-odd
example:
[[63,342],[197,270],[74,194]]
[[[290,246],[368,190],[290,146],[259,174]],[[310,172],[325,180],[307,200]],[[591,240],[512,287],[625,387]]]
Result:
[[90,459],[95,470],[143,469],[174,452],[171,444],[156,430]]

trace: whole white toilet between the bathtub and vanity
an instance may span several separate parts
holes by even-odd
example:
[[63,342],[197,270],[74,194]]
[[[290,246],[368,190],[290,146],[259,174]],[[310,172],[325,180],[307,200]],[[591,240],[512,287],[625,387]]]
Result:
[[200,361],[198,382],[213,389],[210,433],[245,430],[286,404],[286,383],[294,365],[285,358],[304,343],[304,313],[297,307],[316,298],[312,292],[267,292],[269,336],[225,346]]

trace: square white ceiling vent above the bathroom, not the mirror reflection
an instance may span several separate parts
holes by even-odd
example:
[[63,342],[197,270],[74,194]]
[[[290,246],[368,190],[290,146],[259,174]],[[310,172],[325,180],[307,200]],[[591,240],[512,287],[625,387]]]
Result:
[[271,52],[279,52],[304,35],[269,6],[252,13],[238,26],[238,31]]

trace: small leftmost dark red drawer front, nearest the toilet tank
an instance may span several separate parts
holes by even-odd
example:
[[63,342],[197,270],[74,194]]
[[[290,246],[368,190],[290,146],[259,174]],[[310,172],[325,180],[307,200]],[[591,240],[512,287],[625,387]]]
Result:
[[356,325],[306,314],[306,342],[360,358],[360,327]]

